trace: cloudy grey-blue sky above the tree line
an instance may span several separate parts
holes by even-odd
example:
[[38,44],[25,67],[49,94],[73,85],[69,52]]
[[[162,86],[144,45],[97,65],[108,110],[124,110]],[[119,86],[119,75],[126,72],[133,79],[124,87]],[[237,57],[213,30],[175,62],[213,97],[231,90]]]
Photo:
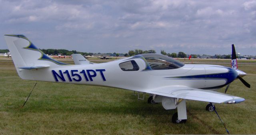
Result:
[[40,49],[256,55],[256,0],[0,0],[4,34]]

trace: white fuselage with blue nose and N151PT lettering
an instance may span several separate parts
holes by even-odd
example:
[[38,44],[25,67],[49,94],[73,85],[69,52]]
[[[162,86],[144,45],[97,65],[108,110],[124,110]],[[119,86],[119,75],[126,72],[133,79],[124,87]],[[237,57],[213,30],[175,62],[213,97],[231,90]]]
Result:
[[[140,92],[159,86],[188,86],[216,90],[237,77],[236,70],[218,65],[186,64],[176,69],[144,70],[144,65],[141,64],[137,71],[123,71],[119,64],[127,60],[128,58],[101,64],[64,65],[38,70],[17,68],[17,70],[24,74],[31,74],[29,80],[107,86]],[[137,60],[137,63],[139,62]],[[40,72],[37,72],[39,70]]]

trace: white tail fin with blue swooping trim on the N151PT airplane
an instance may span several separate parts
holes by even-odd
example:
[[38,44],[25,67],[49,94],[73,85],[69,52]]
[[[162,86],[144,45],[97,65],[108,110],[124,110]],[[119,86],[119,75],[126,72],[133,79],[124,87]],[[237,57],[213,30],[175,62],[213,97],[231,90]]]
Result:
[[31,80],[27,78],[24,72],[21,73],[18,70],[68,65],[45,55],[24,35],[4,35],[4,38],[12,54],[12,60],[17,68],[17,72],[22,79]]

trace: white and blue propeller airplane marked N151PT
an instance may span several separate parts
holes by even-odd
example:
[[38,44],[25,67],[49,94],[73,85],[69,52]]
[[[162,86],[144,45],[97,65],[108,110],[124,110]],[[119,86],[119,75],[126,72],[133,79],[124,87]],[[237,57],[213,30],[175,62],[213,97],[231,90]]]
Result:
[[[215,92],[245,72],[218,65],[183,64],[164,55],[142,54],[108,63],[69,65],[51,59],[24,35],[4,35],[20,78],[57,83],[85,84],[122,88],[152,96],[166,110],[176,109],[173,123],[187,120],[186,100],[236,104],[244,98]],[[210,104],[207,110],[212,110]]]

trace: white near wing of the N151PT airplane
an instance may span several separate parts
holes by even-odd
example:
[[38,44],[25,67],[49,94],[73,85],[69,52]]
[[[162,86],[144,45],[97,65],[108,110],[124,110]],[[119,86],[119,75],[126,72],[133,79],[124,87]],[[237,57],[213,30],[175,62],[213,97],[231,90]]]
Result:
[[224,104],[235,104],[243,102],[245,100],[244,98],[223,94],[220,92],[202,90],[197,88],[189,88],[185,86],[162,87],[154,90],[147,90],[147,93],[171,98],[182,98],[187,100]]

